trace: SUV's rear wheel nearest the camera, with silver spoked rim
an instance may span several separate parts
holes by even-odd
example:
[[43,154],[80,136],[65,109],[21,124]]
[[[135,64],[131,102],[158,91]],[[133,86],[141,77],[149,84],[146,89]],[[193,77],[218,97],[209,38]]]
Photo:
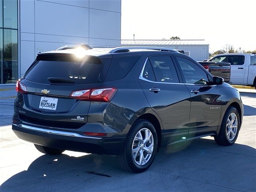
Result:
[[155,158],[157,141],[153,124],[147,120],[137,120],[126,137],[123,153],[116,156],[119,166],[128,172],[146,171]]

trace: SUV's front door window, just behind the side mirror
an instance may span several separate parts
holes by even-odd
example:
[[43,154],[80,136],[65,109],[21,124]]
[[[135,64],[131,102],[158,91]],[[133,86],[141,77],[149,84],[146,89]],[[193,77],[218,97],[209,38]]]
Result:
[[182,57],[176,58],[180,64],[186,83],[207,84],[209,82],[207,74],[194,62]]

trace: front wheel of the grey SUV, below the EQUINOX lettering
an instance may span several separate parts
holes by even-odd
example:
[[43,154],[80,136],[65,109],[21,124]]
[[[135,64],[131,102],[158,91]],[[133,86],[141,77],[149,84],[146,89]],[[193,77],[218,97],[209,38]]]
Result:
[[[230,128],[231,127],[231,128]],[[240,116],[236,108],[230,106],[222,119],[220,132],[214,136],[217,144],[230,146],[236,142],[240,130]]]

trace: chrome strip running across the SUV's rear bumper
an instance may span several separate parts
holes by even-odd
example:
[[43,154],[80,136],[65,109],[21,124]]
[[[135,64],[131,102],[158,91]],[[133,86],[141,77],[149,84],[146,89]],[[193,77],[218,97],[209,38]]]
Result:
[[56,131],[56,130],[49,130],[49,129],[43,129],[38,127],[32,127],[24,124],[14,124],[15,126],[22,127],[28,130],[38,131],[42,133],[48,133],[48,134],[54,134],[54,135],[63,135],[63,136],[70,136],[70,137],[78,137],[78,138],[89,138],[89,139],[102,139],[100,137],[90,137],[90,136],[84,136],[73,132],[64,132],[64,131]]

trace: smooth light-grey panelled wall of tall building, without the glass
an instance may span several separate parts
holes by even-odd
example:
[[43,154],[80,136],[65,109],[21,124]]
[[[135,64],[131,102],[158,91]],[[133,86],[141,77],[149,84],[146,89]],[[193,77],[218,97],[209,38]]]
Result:
[[120,46],[121,0],[20,0],[20,77],[64,45]]

